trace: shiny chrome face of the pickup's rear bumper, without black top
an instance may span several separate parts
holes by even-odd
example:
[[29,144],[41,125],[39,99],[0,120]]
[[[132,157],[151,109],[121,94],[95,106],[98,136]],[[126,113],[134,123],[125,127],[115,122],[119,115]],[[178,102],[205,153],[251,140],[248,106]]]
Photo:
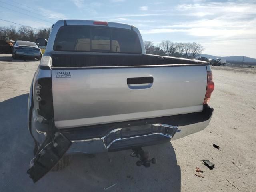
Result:
[[[93,154],[116,150],[126,150],[138,146],[143,147],[169,142],[171,139],[179,139],[203,130],[209,124],[212,118],[212,114],[213,109],[207,106],[205,114],[202,114],[202,116],[205,116],[204,119],[201,121],[197,120],[196,123],[189,123],[183,126],[171,126],[157,123],[144,124],[140,126],[113,128],[102,137],[81,140],[71,139],[72,145],[67,153]],[[38,142],[42,143],[46,138],[46,133],[42,130],[46,128],[40,128],[38,122],[34,121],[35,118],[36,117],[32,118],[32,134],[35,136]],[[176,120],[177,119],[180,118],[176,118]],[[190,117],[189,122],[193,121],[194,118]],[[62,133],[64,135],[68,134],[68,132],[65,131]]]

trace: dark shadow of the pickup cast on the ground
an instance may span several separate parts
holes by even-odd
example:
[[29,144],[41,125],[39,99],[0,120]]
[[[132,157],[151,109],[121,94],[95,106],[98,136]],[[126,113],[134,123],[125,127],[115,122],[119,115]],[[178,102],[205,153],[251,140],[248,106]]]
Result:
[[172,144],[145,148],[157,164],[137,167],[130,150],[73,156],[70,166],[49,172],[36,184],[26,174],[33,158],[27,129],[28,94],[0,103],[0,191],[180,191],[181,172]]

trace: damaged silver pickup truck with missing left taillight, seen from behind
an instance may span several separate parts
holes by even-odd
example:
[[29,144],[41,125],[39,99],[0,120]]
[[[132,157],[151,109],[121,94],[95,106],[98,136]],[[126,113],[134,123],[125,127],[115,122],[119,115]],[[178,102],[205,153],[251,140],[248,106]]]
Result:
[[28,174],[36,182],[70,154],[127,149],[148,167],[156,159],[142,147],[206,128],[213,90],[208,62],[146,54],[135,26],[59,20],[30,88]]

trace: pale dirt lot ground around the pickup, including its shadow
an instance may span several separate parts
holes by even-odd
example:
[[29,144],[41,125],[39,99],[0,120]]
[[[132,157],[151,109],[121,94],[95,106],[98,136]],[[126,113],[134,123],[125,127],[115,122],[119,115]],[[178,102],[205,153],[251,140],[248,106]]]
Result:
[[[130,151],[74,156],[60,172],[33,184],[26,170],[33,157],[26,124],[28,92],[39,62],[0,55],[0,191],[240,191],[256,190],[256,74],[252,69],[212,67],[214,115],[203,131],[148,148],[158,159],[136,167]],[[189,99],[189,98],[188,98]],[[220,146],[220,150],[212,144]],[[202,159],[215,163],[209,170]],[[199,166],[204,178],[195,176]],[[226,180],[227,179],[227,180]]]

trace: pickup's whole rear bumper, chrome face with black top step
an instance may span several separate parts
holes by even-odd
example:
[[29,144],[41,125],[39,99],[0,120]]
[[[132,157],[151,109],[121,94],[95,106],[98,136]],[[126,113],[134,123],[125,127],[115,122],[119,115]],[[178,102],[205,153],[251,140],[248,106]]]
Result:
[[[196,133],[206,128],[212,114],[213,108],[207,105],[202,112],[68,128],[61,132],[72,141],[67,153],[112,152],[161,144]],[[33,135],[39,142],[43,141],[46,134],[35,127],[32,122]]]

